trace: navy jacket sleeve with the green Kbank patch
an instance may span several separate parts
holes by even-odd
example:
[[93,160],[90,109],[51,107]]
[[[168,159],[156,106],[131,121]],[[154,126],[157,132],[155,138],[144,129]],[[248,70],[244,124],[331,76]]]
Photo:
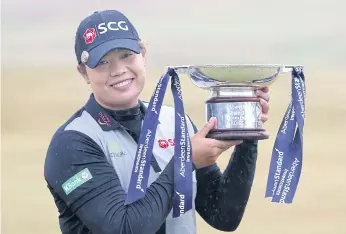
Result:
[[143,199],[124,205],[126,193],[102,149],[76,131],[52,140],[44,174],[48,186],[92,233],[155,233],[172,208],[173,160]]

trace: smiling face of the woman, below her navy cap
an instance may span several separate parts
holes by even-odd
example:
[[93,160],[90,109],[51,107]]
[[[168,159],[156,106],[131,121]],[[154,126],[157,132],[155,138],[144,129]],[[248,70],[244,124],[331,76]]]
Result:
[[139,54],[129,49],[114,49],[105,54],[95,68],[82,63],[78,71],[90,84],[96,101],[109,109],[127,109],[137,104],[144,87],[145,56],[143,46]]

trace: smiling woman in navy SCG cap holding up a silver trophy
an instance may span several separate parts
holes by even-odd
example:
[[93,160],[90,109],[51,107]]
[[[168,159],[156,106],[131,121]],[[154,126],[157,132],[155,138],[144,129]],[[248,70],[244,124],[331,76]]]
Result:
[[[257,158],[257,141],[206,138],[210,119],[197,130],[187,118],[193,161],[193,208],[172,217],[174,108],[162,106],[145,197],[125,205],[147,103],[147,51],[137,30],[121,12],[94,12],[75,36],[78,71],[91,94],[55,132],[44,177],[59,213],[62,233],[195,234],[196,211],[215,229],[234,231],[241,222]],[[267,120],[268,88],[257,91]],[[215,163],[234,152],[221,173]]]

